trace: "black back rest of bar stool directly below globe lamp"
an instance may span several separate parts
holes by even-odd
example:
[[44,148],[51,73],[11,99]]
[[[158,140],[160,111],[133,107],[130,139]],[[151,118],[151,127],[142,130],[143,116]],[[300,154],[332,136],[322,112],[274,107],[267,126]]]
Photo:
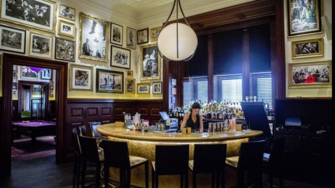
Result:
[[188,173],[189,145],[156,145],[155,170],[157,175]]

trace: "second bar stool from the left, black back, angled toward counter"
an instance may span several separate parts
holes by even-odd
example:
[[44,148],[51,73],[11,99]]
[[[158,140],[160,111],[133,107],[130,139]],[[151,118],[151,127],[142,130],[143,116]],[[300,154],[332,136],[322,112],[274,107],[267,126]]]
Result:
[[[95,185],[95,188],[99,188],[100,182],[103,179],[100,178],[101,164],[104,162],[104,153],[102,150],[98,150],[96,145],[96,139],[91,137],[79,136],[79,143],[82,151],[83,167],[82,167],[82,188]],[[86,175],[86,163],[91,162],[95,164],[95,184],[85,186],[85,175]]]

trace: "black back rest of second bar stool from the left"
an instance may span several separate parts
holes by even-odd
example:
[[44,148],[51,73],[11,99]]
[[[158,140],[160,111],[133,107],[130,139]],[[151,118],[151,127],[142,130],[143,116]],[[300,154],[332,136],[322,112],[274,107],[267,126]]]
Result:
[[79,136],[79,143],[82,149],[82,156],[90,162],[100,162],[96,139],[86,136]]

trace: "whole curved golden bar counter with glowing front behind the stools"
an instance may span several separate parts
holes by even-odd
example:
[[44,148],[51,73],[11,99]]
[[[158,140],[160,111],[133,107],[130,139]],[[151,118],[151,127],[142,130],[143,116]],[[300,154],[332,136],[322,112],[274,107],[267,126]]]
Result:
[[[104,124],[97,127],[97,131],[108,136],[109,140],[121,141],[128,143],[130,155],[136,155],[149,159],[149,184],[151,187],[151,161],[155,160],[156,145],[184,145],[190,146],[189,159],[193,159],[195,144],[227,144],[227,156],[239,155],[242,142],[248,142],[250,137],[263,134],[262,131],[236,131],[235,133],[161,133],[161,132],[140,132],[132,131],[122,127],[115,127],[114,123]],[[210,160],[210,156],[209,156]],[[111,168],[113,179],[119,179],[117,170]],[[227,173],[226,173],[227,174]],[[191,173],[189,173],[189,181],[192,182]],[[163,176],[160,177],[159,185],[161,188],[180,187],[179,176]],[[209,175],[197,176],[198,187],[210,187]],[[229,181],[226,180],[226,184]],[[136,186],[144,186],[144,167],[131,170],[131,184]],[[191,187],[192,184],[189,184]]]

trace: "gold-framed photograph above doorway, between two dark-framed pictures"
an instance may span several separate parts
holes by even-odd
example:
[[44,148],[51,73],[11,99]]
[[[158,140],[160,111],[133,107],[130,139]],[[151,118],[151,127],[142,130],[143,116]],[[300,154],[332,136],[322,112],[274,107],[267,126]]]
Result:
[[52,58],[52,37],[30,32],[29,55]]

